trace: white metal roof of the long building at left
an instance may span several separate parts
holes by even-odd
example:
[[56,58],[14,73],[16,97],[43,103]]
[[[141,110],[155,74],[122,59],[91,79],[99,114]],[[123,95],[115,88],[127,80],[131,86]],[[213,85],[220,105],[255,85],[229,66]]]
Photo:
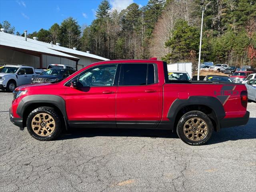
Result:
[[[79,56],[84,56],[88,58],[95,58],[98,60],[109,60],[94,54],[62,47],[62,46],[56,46],[52,45],[50,43],[41,42],[37,40],[33,40],[30,38],[27,38],[27,41],[25,41],[25,38],[22,36],[16,36],[4,32],[0,32],[0,45],[7,46],[7,47],[13,47],[18,49],[24,49],[24,50],[30,50],[34,52],[40,52],[42,54],[50,54],[58,57],[64,57],[64,58],[70,58],[73,60],[79,60]],[[77,56],[72,56],[70,54],[75,54]]]

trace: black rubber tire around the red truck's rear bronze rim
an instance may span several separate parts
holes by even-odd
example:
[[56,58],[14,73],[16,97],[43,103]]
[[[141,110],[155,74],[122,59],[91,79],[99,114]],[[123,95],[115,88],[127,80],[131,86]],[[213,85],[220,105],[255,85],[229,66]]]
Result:
[[[190,140],[189,138],[187,138],[187,136],[184,133],[184,126],[185,123],[190,120],[191,118],[200,118],[201,120],[203,120],[206,125],[207,125],[207,132],[206,132],[206,136],[204,136],[204,138],[200,139],[200,140]],[[179,138],[185,142],[186,144],[189,145],[203,145],[205,144],[212,136],[212,132],[213,132],[213,125],[212,122],[210,120],[210,118],[204,114],[203,112],[200,111],[190,111],[187,112],[186,114],[184,114],[177,125],[177,134],[179,136]],[[199,134],[201,135],[201,134]],[[201,135],[202,136],[202,135]]]

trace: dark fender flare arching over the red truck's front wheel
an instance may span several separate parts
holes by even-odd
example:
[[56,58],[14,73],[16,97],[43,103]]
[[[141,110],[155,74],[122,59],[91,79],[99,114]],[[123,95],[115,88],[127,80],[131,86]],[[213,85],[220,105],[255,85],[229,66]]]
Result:
[[67,128],[68,117],[67,117],[67,113],[66,113],[66,104],[65,104],[65,100],[60,96],[47,95],[47,94],[26,96],[26,97],[22,98],[22,100],[20,100],[20,103],[18,104],[16,113],[22,118],[26,108],[28,106],[30,106],[31,104],[37,104],[37,103],[49,103],[49,104],[56,106],[62,113],[62,115],[64,117],[64,122],[65,122],[66,128]]

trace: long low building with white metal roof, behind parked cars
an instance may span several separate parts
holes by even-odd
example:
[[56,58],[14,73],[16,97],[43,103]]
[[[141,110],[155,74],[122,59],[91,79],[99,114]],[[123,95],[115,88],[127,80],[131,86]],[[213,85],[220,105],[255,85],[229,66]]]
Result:
[[67,64],[78,70],[93,62],[106,58],[70,49],[59,45],[40,42],[0,32],[0,64],[19,64],[34,68],[47,68],[49,64]]

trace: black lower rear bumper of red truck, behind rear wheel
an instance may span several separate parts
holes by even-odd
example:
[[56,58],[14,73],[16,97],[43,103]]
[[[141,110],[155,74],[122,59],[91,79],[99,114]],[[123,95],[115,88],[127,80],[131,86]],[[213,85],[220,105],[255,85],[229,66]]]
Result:
[[249,120],[250,112],[246,111],[246,114],[240,118],[224,118],[220,120],[220,128],[228,128],[246,125]]

